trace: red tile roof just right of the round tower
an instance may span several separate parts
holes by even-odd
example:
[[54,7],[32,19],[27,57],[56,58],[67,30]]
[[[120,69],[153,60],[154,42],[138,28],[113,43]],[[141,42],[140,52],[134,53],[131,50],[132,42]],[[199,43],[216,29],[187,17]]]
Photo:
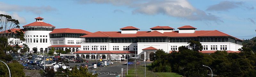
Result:
[[92,32],[88,32],[82,29],[70,29],[70,28],[60,28],[60,29],[53,29],[50,34],[54,33],[79,33],[79,34],[91,34]]

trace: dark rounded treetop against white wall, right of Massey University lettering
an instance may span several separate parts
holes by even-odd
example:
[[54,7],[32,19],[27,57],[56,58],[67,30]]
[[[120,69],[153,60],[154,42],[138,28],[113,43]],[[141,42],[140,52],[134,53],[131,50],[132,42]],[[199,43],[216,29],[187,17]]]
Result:
[[203,50],[203,46],[200,42],[198,41],[194,41],[194,40],[190,40],[188,41],[189,46],[192,47],[193,51],[202,51]]

